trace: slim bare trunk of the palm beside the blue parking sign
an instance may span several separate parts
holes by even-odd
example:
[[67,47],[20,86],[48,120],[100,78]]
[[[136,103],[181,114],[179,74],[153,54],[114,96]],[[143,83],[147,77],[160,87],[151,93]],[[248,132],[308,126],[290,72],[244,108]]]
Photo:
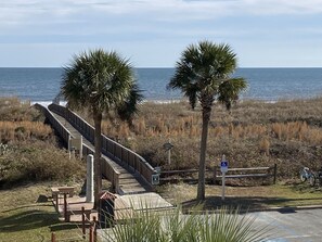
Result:
[[201,156],[199,156],[199,170],[198,170],[198,188],[197,201],[205,200],[205,173],[206,173],[206,152],[208,140],[208,126],[210,120],[211,107],[203,107],[203,130],[201,140]]

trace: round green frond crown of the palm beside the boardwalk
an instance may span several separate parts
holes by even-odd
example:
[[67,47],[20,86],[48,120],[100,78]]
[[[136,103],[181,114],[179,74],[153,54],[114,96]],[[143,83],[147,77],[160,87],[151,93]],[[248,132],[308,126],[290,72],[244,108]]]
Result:
[[[105,52],[102,49],[75,55],[70,64],[64,67],[61,85],[69,106],[94,106],[101,113],[121,106],[129,100],[132,105],[128,107],[133,109],[142,99],[136,88],[129,60],[115,51]],[[133,102],[136,98],[139,100]]]

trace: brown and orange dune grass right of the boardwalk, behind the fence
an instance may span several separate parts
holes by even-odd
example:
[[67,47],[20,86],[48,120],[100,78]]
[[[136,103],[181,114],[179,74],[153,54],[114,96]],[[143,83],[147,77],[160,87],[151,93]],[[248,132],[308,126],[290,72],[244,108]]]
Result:
[[[111,117],[113,114],[105,116],[103,132],[138,152],[153,166],[162,166],[164,170],[197,168],[199,107],[193,111],[186,102],[142,103],[131,127]],[[168,141],[173,144],[170,165],[163,148]],[[276,103],[243,101],[230,113],[215,105],[206,166],[218,165],[226,154],[230,167],[278,164],[279,179],[289,179],[297,177],[302,166],[320,168],[321,142],[322,98]]]

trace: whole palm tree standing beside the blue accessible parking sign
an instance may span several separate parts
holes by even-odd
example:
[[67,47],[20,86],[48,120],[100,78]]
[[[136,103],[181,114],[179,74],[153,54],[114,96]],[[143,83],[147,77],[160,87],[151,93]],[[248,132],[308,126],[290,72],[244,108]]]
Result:
[[228,44],[201,41],[189,46],[177,62],[176,72],[168,88],[181,89],[192,109],[197,101],[202,106],[203,128],[201,138],[197,200],[205,200],[205,162],[208,124],[214,102],[220,101],[227,109],[246,88],[244,78],[231,78],[236,68],[236,54]]

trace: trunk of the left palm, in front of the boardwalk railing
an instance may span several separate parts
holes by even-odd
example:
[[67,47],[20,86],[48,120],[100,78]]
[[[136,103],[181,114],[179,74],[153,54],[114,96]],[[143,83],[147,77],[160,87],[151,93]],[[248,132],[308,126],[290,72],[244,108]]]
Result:
[[101,156],[102,156],[102,113],[95,112],[94,117],[94,208],[99,206],[99,194],[102,191],[102,170],[101,170]]

